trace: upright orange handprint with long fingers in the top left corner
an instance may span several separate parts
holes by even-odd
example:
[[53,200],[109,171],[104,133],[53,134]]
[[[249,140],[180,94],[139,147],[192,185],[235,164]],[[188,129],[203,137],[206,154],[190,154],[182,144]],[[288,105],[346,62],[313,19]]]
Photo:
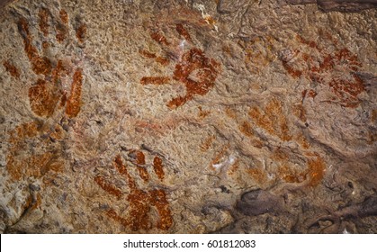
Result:
[[[81,89],[83,83],[83,70],[76,67],[70,85],[70,94],[67,97],[66,88],[62,85],[62,77],[67,76],[70,68],[66,61],[59,58],[48,57],[50,47],[49,38],[49,17],[51,14],[48,9],[42,8],[39,13],[39,28],[44,40],[41,42],[42,53],[34,45],[29,23],[25,18],[20,18],[18,30],[22,36],[24,50],[31,63],[31,70],[36,75],[42,75],[34,85],[29,88],[29,101],[31,111],[40,117],[50,117],[58,106],[66,106],[68,117],[76,117],[80,112]],[[67,40],[68,35],[68,15],[64,10],[59,12],[59,18],[54,19],[56,24],[56,40],[62,43]],[[85,38],[85,24],[80,24],[76,28],[77,43],[83,43]]]

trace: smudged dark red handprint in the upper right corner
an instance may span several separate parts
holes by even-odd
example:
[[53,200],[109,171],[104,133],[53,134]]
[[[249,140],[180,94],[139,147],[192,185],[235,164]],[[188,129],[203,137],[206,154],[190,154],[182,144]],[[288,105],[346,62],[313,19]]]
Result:
[[[300,47],[281,53],[283,67],[292,77],[303,76],[313,84],[328,88],[329,103],[355,108],[360,103],[358,95],[365,91],[364,81],[357,75],[362,64],[357,55],[341,46],[330,34],[325,32],[323,37],[330,43],[327,48],[297,35]],[[311,90],[308,95],[315,97],[317,93]]]

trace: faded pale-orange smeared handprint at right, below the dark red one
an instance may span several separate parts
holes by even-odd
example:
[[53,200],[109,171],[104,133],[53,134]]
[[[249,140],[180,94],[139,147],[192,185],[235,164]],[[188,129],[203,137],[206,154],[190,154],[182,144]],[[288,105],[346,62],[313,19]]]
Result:
[[[247,117],[244,111],[227,110],[229,119],[238,123],[238,130],[246,137],[245,149],[252,147],[263,154],[255,155],[250,162],[237,157],[225,146],[212,159],[213,170],[219,172],[217,167],[228,166],[229,177],[243,180],[249,175],[260,186],[277,181],[294,187],[318,186],[326,175],[326,156],[311,146],[308,137],[297,129],[289,116],[294,110],[294,106],[283,103],[278,96],[272,96],[265,104],[250,106]],[[279,144],[271,144],[265,136]],[[288,144],[296,148],[287,148]],[[268,151],[264,151],[265,146],[269,147]],[[297,155],[301,158],[295,159]]]

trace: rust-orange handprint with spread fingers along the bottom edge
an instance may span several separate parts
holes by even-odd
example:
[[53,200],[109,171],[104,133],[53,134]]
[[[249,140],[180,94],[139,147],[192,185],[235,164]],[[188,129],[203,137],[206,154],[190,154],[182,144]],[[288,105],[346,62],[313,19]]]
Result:
[[[144,183],[148,183],[150,175],[146,169],[144,154],[139,150],[132,150],[129,154],[133,158],[132,163],[136,166],[140,178]],[[148,230],[156,227],[157,229],[167,230],[173,225],[173,217],[170,211],[167,194],[163,189],[140,190],[134,178],[130,175],[128,167],[123,164],[120,155],[116,156],[112,165],[118,174],[126,179],[130,189],[127,195],[129,202],[127,217],[121,217],[112,208],[106,211],[106,215],[112,220],[120,222],[123,226],[129,227],[133,231],[139,229]],[[154,157],[153,169],[158,180],[162,182],[165,177],[162,160],[160,157]],[[104,191],[121,199],[123,193],[115,185],[106,181],[102,175],[96,175],[94,181]],[[151,208],[154,208],[158,214],[158,220],[153,221],[150,218]]]

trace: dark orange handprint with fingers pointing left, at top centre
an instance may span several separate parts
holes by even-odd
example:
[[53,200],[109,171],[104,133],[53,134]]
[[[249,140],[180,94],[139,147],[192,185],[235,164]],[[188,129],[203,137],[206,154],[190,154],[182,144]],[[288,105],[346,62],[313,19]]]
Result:
[[[167,106],[171,109],[175,109],[193,100],[195,95],[205,95],[210,92],[211,88],[215,85],[216,78],[220,74],[220,63],[213,58],[207,58],[202,49],[198,49],[192,45],[193,40],[191,35],[182,23],[175,25],[175,31],[180,38],[184,39],[181,42],[183,44],[174,45],[166,39],[161,31],[150,33],[151,39],[163,47],[168,52],[166,53],[167,55],[175,55],[173,58],[177,58],[172,76],[143,76],[140,79],[141,85],[165,85],[174,81],[184,84],[186,94],[177,96],[169,101]],[[191,48],[176,53],[175,48],[183,49],[185,43],[189,44]],[[145,49],[140,50],[140,54],[145,58],[155,58],[157,63],[163,66],[167,66],[170,62],[169,57],[159,57],[155,53]]]

